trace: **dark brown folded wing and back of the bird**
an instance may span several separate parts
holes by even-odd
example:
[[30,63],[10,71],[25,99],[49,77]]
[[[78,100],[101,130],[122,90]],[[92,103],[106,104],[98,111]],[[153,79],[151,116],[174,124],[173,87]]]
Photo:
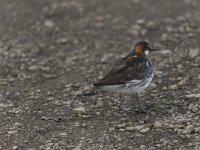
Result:
[[94,85],[124,84],[128,81],[140,81],[148,73],[144,57],[126,56],[116,61],[111,71]]

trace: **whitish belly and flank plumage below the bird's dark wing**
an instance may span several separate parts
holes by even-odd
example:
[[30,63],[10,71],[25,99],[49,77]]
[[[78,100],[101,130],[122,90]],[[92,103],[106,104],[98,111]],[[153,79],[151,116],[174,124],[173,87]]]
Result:
[[111,92],[120,94],[127,94],[127,95],[132,95],[134,93],[139,94],[149,86],[152,79],[153,79],[153,73],[145,80],[132,80],[128,81],[125,84],[107,85],[103,86],[103,88]]

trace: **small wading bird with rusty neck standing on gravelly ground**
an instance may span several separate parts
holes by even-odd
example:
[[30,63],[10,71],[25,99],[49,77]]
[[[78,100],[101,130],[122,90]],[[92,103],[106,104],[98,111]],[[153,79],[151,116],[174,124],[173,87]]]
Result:
[[153,78],[153,65],[147,55],[158,50],[151,49],[146,41],[137,42],[130,53],[117,60],[111,71],[94,83],[94,86],[135,97],[140,111],[144,112],[139,94],[148,87]]

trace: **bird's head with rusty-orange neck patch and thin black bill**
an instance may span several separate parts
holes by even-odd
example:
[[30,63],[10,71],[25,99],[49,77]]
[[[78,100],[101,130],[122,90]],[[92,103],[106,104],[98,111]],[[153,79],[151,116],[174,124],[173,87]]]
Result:
[[139,41],[133,46],[133,52],[137,56],[148,55],[149,52],[159,51],[159,49],[152,49],[149,47],[149,43],[146,41]]

